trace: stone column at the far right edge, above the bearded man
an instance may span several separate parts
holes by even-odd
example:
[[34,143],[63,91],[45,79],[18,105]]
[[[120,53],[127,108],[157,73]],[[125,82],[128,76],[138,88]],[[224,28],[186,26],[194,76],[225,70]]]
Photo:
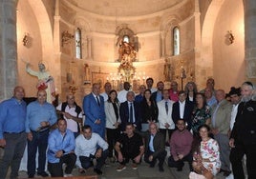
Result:
[[256,78],[256,1],[244,0],[245,61],[248,78]]

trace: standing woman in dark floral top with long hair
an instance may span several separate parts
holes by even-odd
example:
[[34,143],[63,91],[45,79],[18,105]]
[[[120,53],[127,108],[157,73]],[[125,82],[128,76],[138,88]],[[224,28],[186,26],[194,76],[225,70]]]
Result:
[[198,136],[198,128],[204,124],[210,125],[211,111],[206,105],[206,99],[203,93],[196,94],[196,107],[192,112],[192,126],[194,136]]

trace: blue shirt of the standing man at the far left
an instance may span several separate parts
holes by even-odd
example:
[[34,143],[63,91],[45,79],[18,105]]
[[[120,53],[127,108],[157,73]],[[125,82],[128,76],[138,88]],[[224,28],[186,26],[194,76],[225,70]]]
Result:
[[21,132],[25,130],[26,103],[12,97],[0,104],[0,139],[4,132]]

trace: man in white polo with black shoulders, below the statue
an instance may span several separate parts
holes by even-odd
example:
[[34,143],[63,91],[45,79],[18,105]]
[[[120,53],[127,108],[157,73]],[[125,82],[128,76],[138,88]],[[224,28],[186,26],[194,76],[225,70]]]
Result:
[[80,133],[80,125],[82,124],[82,109],[75,103],[74,94],[67,95],[67,101],[56,107],[67,121],[67,129],[74,132],[75,138]]

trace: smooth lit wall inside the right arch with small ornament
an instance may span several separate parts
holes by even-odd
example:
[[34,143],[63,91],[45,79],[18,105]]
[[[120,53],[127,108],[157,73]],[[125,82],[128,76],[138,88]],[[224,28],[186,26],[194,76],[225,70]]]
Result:
[[[213,77],[217,89],[229,91],[245,81],[245,26],[242,0],[225,0],[213,32]],[[230,42],[230,34],[234,41]]]

